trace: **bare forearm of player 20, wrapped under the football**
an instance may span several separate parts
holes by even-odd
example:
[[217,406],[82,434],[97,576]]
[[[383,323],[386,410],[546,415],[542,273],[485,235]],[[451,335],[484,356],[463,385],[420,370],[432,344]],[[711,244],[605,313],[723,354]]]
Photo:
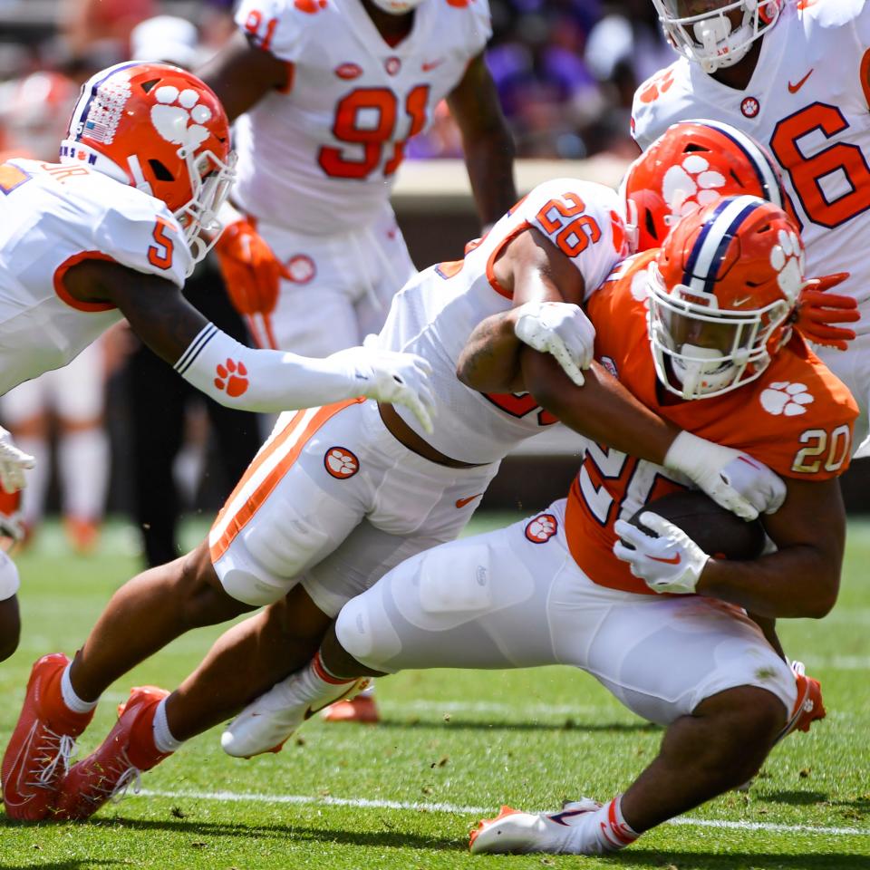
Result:
[[710,559],[696,591],[772,618],[821,619],[836,602],[840,558],[816,546],[788,546],[751,562]]

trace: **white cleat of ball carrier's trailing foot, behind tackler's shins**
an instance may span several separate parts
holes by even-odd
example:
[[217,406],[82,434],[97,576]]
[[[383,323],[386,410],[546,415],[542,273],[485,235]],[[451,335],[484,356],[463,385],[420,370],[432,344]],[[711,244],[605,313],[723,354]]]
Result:
[[304,720],[311,719],[314,713],[334,701],[353,696],[368,684],[368,679],[363,677],[350,684],[335,686],[335,693],[329,698],[321,696],[312,710],[311,701],[301,698],[299,681],[299,675],[293,674],[275,683],[227,725],[220,735],[220,746],[227,755],[249,759],[263,752],[280,752]]

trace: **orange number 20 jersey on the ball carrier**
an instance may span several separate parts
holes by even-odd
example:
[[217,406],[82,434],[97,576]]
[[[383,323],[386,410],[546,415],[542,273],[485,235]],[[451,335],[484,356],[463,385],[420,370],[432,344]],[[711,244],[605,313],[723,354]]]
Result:
[[[665,420],[701,438],[744,450],[781,477],[826,480],[846,470],[857,405],[846,387],[795,335],[755,381],[694,401],[663,400],[647,331],[647,251],[623,262],[588,302],[595,358]],[[568,494],[571,555],[595,583],[654,594],[613,553],[614,521],[689,484],[645,459],[591,444]]]

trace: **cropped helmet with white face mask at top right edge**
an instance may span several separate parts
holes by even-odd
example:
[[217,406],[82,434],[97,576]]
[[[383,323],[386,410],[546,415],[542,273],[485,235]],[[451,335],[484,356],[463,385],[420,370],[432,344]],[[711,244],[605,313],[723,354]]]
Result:
[[[715,73],[746,56],[776,24],[784,0],[652,0],[652,5],[674,49],[705,73]],[[739,24],[732,20],[735,13]]]

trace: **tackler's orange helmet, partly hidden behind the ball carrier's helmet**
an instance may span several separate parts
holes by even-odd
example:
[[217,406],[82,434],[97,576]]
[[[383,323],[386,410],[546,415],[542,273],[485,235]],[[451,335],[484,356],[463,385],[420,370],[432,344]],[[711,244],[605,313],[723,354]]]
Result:
[[680,218],[720,197],[746,193],[779,208],[787,201],[768,151],[719,121],[672,124],[628,168],[621,192],[640,251],[660,247]]

